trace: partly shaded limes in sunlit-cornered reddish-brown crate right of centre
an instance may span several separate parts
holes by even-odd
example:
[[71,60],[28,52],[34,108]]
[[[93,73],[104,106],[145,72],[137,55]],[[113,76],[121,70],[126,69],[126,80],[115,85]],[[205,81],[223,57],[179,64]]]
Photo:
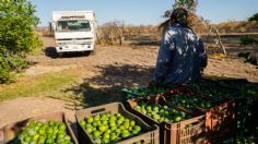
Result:
[[184,111],[179,111],[175,108],[169,108],[168,106],[164,105],[148,105],[148,104],[140,104],[134,107],[134,109],[152,119],[156,122],[179,122],[181,120],[191,118],[190,115],[187,115]]

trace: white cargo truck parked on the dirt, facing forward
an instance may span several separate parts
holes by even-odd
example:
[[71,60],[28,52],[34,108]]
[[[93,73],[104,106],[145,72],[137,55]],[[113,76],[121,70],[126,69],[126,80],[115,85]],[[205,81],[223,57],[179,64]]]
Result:
[[87,52],[95,49],[97,22],[93,11],[55,11],[52,29],[55,32],[56,51]]

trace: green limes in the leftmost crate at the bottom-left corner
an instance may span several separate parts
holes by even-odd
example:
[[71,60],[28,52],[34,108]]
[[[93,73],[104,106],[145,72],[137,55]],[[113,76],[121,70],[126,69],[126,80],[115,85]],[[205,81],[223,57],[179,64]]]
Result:
[[15,144],[73,144],[63,122],[31,121],[15,139]]

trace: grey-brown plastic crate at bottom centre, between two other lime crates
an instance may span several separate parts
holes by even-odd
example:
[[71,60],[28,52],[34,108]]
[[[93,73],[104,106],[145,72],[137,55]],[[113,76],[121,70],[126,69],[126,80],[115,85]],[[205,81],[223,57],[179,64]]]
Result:
[[137,142],[141,142],[144,144],[159,144],[160,135],[159,135],[159,128],[157,125],[150,127],[144,121],[142,121],[139,117],[132,115],[131,112],[127,111],[122,104],[120,103],[113,103],[103,106],[92,107],[87,109],[78,110],[75,112],[77,123],[78,123],[78,134],[79,134],[79,142],[82,144],[94,144],[94,140],[85,129],[81,125],[80,121],[95,115],[102,113],[121,113],[122,116],[134,120],[138,125],[140,125],[144,133],[136,135],[133,137],[128,137],[126,140],[118,141],[118,144],[133,144]]

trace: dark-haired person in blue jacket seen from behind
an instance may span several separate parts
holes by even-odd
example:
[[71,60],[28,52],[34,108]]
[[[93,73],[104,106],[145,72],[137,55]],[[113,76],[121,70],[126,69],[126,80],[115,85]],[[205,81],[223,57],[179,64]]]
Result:
[[[187,24],[188,11],[175,9],[166,27],[150,86],[169,86],[198,81],[207,67],[200,37]],[[165,24],[164,24],[165,25]]]

